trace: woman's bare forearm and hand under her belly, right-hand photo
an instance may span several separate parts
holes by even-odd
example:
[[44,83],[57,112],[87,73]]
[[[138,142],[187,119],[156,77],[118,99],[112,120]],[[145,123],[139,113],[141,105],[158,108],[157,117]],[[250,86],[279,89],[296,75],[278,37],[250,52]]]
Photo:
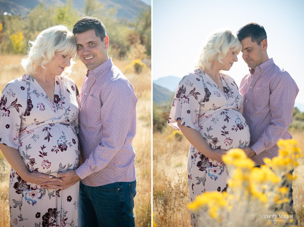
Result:
[[206,140],[202,135],[196,130],[186,126],[181,125],[181,121],[177,121],[178,127],[181,129],[181,132],[186,137],[186,139],[194,146],[200,153],[205,155],[208,158],[214,159],[216,161],[222,162],[222,155],[225,154],[224,150],[212,150]]

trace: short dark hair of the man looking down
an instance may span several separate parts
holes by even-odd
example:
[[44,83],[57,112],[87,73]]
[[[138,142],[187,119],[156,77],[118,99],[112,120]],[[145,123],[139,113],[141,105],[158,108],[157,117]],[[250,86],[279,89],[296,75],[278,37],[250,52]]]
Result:
[[252,42],[257,42],[257,45],[261,45],[261,42],[267,40],[267,34],[263,26],[257,23],[249,23],[241,27],[237,31],[237,38],[242,41],[247,37],[251,37]]

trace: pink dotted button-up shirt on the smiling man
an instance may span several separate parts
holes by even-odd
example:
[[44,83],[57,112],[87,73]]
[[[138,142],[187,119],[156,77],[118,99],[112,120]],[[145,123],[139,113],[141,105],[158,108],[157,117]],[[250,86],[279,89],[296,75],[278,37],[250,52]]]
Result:
[[136,179],[132,140],[136,103],[132,84],[106,60],[88,71],[80,92],[79,139],[84,163],[76,169],[81,182],[101,186]]

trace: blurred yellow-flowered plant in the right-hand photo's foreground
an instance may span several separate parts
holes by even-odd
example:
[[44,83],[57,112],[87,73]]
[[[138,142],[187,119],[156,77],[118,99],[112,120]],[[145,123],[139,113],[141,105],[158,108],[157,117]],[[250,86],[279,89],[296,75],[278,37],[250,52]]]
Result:
[[188,205],[198,214],[199,226],[206,223],[219,227],[291,225],[292,218],[268,221],[263,220],[262,215],[287,215],[283,212],[288,210],[289,202],[289,188],[286,185],[295,179],[290,171],[299,165],[298,161],[303,157],[294,139],[279,140],[278,147],[279,155],[272,160],[265,158],[265,165],[260,168],[254,167],[254,162],[241,149],[227,152],[223,156],[231,173],[227,193],[206,192]]

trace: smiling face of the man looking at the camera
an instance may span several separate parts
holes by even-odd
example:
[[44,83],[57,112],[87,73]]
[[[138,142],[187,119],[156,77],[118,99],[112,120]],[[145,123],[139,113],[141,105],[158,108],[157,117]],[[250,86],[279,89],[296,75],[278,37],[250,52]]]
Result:
[[75,35],[77,54],[83,64],[93,70],[109,59],[107,49],[109,47],[109,37],[103,40],[96,36],[95,30],[88,30]]

